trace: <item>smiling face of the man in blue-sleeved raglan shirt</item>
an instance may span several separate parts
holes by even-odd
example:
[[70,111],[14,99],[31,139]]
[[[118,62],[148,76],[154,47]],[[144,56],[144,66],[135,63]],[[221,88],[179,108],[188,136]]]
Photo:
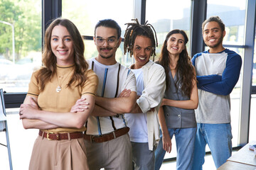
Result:
[[206,26],[203,28],[203,41],[210,47],[210,50],[222,50],[224,36],[225,30],[222,31],[220,25],[215,21],[206,23]]

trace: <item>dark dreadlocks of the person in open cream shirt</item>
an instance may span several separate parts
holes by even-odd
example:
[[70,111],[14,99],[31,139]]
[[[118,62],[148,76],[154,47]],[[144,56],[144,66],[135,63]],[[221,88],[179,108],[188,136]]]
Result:
[[[151,46],[152,46],[152,54],[153,57],[156,56],[156,47],[157,44],[157,38],[156,38],[156,30],[154,30],[154,27],[151,26],[151,24],[146,23],[144,25],[139,24],[138,19],[132,19],[132,21],[136,21],[135,23],[126,23],[127,29],[124,33],[124,55],[126,52],[130,53],[130,56],[133,55],[133,48],[134,48],[134,41],[137,38],[138,35],[143,35],[151,40]],[[153,58],[154,61],[154,58]]]

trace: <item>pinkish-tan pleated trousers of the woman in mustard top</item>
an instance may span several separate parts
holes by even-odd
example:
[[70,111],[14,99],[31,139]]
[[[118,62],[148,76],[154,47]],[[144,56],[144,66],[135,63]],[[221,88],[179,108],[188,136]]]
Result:
[[47,140],[38,136],[33,146],[30,170],[87,170],[83,138]]

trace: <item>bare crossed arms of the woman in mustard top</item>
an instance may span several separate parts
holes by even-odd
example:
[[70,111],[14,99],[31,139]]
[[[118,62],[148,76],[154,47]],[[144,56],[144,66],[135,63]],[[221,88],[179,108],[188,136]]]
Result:
[[82,128],[94,108],[95,96],[85,94],[87,109],[76,113],[42,111],[35,96],[26,96],[20,108],[20,118],[25,129]]

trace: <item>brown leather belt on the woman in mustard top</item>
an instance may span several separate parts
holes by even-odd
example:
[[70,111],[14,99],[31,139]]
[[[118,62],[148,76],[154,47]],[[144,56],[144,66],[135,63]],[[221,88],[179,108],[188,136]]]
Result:
[[[39,130],[39,136],[46,137],[48,140],[68,140],[68,133],[51,133],[51,132],[42,132]],[[70,132],[70,140],[78,139],[83,137],[82,132]]]

